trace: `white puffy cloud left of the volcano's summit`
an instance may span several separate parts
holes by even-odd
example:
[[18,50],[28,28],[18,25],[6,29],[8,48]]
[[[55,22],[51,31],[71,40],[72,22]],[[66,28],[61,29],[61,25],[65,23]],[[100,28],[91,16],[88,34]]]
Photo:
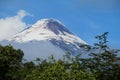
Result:
[[23,30],[27,24],[22,19],[29,15],[24,10],[19,10],[16,16],[0,19],[0,41],[11,38],[17,32]]

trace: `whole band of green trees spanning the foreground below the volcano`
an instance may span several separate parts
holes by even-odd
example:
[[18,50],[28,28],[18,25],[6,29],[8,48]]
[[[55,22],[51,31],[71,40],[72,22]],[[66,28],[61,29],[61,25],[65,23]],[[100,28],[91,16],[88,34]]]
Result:
[[[23,52],[11,45],[0,46],[0,80],[119,80],[119,50],[107,45],[107,32],[95,37],[98,42],[83,48],[77,56],[67,53],[63,59],[53,56],[22,62]],[[89,57],[82,58],[81,54]]]

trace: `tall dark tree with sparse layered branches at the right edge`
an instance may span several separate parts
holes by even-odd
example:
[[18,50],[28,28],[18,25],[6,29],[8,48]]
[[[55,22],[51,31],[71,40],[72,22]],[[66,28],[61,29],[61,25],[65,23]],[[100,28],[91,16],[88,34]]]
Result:
[[97,80],[119,80],[120,57],[117,56],[119,50],[108,47],[107,35],[108,32],[105,32],[96,36],[95,38],[99,42],[94,46],[84,46],[84,49],[88,50],[90,58],[81,59],[81,66],[89,69]]

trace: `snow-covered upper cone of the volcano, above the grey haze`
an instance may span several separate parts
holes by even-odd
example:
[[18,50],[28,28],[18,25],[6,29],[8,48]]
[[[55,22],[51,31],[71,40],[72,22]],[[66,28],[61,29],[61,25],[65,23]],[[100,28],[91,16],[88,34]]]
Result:
[[12,40],[27,42],[32,40],[62,40],[66,43],[86,44],[79,37],[75,36],[58,20],[42,19],[14,36]]

